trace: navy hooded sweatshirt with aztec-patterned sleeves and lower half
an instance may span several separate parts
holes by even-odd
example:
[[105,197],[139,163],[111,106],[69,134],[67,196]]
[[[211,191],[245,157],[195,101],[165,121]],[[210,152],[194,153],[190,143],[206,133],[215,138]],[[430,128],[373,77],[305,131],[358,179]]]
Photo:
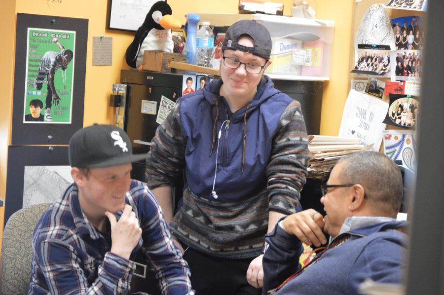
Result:
[[291,214],[300,207],[308,138],[300,104],[267,76],[253,100],[234,113],[221,86],[221,79],[213,80],[180,98],[152,140],[147,183],[151,189],[174,186],[184,170],[183,205],[170,223],[172,234],[212,256],[251,258],[261,252],[268,212]]

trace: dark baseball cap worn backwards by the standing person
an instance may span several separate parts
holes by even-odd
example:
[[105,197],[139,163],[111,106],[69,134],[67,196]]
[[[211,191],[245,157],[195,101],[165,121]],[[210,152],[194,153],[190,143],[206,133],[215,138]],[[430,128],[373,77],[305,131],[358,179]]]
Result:
[[[250,36],[255,42],[255,47],[247,47],[238,44],[239,37]],[[249,52],[266,60],[270,59],[271,36],[267,28],[252,20],[241,20],[232,24],[225,33],[222,42],[222,50],[240,50]]]

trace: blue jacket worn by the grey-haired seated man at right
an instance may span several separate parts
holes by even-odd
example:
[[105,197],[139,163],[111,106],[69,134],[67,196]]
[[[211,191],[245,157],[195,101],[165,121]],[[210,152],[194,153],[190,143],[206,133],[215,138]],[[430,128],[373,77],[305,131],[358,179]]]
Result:
[[[366,279],[400,284],[407,235],[398,229],[406,227],[406,221],[388,221],[340,234],[330,243],[330,249],[275,294],[358,294],[359,284]],[[332,246],[346,237],[349,239]],[[267,243],[264,292],[278,287],[300,269],[297,261],[303,252],[300,240],[279,225],[267,235]]]

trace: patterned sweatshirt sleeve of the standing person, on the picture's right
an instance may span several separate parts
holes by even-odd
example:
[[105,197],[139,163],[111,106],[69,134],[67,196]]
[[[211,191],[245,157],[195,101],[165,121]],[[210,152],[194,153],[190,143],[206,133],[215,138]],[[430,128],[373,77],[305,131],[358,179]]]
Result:
[[281,115],[267,166],[270,211],[296,212],[310,157],[300,104],[293,101]]

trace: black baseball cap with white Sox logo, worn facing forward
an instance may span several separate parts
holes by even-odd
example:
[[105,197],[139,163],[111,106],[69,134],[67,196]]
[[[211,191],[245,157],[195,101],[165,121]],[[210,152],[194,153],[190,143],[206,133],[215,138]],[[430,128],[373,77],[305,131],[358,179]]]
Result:
[[131,141],[121,128],[95,123],[71,137],[69,158],[71,167],[105,168],[143,160],[147,154],[133,155]]

